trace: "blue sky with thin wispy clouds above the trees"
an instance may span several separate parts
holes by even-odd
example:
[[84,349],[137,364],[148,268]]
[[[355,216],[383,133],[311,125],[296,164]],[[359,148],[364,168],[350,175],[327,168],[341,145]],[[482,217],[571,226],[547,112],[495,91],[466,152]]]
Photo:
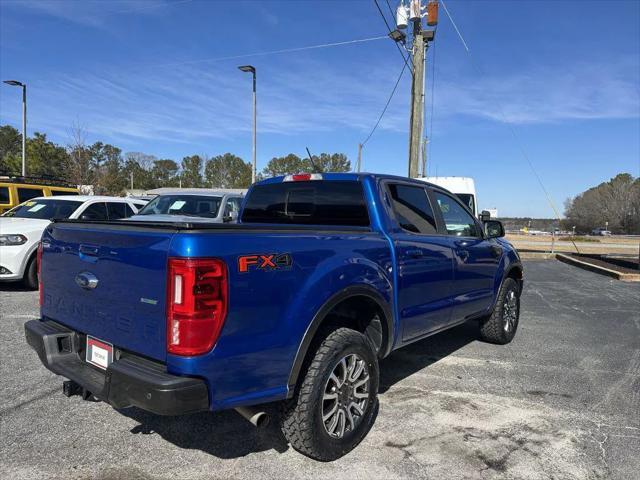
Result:
[[[619,172],[640,175],[640,2],[446,3],[484,74],[441,8],[429,174],[475,177],[480,207],[503,216],[553,216],[506,117],[560,210]],[[125,152],[249,160],[251,84],[236,66],[251,63],[259,169],[307,146],[355,161],[403,65],[391,40],[220,58],[385,33],[372,0],[0,0],[0,73],[28,84],[29,134],[67,144],[80,124]],[[409,78],[365,170],[406,174]],[[20,125],[6,85],[0,123]]]

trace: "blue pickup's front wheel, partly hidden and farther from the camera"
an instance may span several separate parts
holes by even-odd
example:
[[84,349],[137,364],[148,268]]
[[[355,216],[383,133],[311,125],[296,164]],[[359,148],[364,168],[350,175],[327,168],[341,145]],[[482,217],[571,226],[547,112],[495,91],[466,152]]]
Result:
[[513,340],[520,321],[520,287],[513,278],[505,278],[500,286],[491,315],[480,324],[482,339],[504,345]]

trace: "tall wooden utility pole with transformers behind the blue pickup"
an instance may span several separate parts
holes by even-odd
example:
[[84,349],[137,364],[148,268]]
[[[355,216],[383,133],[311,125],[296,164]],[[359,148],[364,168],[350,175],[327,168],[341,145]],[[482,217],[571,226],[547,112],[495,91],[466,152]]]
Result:
[[[399,8],[406,8],[401,5]],[[422,30],[422,5],[420,0],[411,0],[409,19],[413,28],[413,82],[411,84],[411,119],[409,121],[409,178],[415,178],[420,172],[421,146],[423,143],[424,122],[424,75],[425,55],[429,41],[433,41],[435,30]],[[427,25],[438,23],[438,2],[430,0],[427,4]],[[424,167],[423,167],[424,170]]]

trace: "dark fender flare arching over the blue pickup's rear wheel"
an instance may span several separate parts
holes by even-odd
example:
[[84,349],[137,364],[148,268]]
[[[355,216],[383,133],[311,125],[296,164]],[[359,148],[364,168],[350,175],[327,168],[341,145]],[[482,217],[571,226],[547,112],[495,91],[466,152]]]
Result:
[[379,353],[379,358],[384,358],[391,352],[391,347],[393,345],[394,339],[394,327],[393,327],[393,311],[391,306],[385,300],[385,298],[378,292],[375,288],[368,285],[354,285],[345,288],[344,290],[339,291],[338,293],[331,296],[316,312],[307,327],[307,330],[302,337],[302,341],[300,342],[300,346],[298,347],[298,351],[293,360],[293,365],[291,367],[291,371],[289,372],[289,380],[287,383],[288,393],[287,397],[291,398],[295,391],[295,387],[298,383],[298,377],[300,375],[300,371],[302,370],[302,364],[307,356],[309,351],[309,347],[313,338],[315,337],[320,325],[326,318],[327,314],[340,302],[350,298],[350,297],[360,297],[364,296],[371,300],[373,300],[376,305],[382,310],[384,318],[382,320],[382,326],[386,327],[386,335],[383,336],[383,345]]

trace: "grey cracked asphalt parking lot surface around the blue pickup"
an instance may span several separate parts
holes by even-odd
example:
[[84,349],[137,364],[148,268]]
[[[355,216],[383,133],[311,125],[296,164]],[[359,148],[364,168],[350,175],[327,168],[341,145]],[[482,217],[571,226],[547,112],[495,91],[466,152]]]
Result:
[[640,284],[525,264],[515,340],[463,325],[381,365],[380,411],[318,463],[235,412],[156,417],[62,395],[24,342],[37,293],[0,288],[3,478],[638,478]]

